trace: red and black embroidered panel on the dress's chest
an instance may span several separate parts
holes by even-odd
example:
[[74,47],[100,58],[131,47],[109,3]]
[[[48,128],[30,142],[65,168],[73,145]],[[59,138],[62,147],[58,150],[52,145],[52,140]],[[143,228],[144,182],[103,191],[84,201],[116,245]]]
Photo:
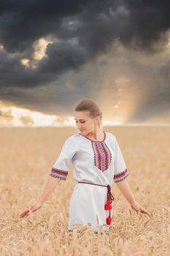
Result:
[[112,160],[112,154],[107,144],[104,141],[93,141],[91,140],[91,145],[94,152],[94,164],[102,172],[109,168],[110,162]]

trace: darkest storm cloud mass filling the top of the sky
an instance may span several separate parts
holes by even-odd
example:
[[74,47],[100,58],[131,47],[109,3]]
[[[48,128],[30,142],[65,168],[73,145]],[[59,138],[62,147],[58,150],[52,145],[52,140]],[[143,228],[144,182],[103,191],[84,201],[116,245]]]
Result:
[[[45,85],[69,69],[80,68],[112,42],[143,50],[166,43],[169,1],[1,1],[0,86]],[[36,69],[20,58],[33,58],[32,44],[41,37],[58,39]],[[10,57],[9,53],[18,53]]]

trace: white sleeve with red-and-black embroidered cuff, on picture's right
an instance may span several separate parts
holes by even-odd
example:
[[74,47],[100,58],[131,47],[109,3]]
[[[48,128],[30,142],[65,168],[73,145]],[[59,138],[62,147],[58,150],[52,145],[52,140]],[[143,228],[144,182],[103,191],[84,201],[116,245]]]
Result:
[[114,162],[114,167],[115,167],[115,173],[114,173],[114,181],[115,182],[120,182],[123,181],[125,178],[128,177],[128,169],[125,165],[125,161],[123,159],[123,154],[120,150],[120,146],[117,143],[117,139],[115,138],[115,162]]

